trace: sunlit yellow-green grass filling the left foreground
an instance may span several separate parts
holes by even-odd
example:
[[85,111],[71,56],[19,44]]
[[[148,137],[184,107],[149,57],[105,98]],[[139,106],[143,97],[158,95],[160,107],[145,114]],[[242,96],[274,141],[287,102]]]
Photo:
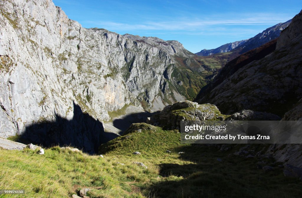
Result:
[[11,197],[69,198],[89,187],[87,195],[92,198],[139,198],[143,196],[132,190],[131,182],[144,182],[154,174],[132,162],[119,166],[112,157],[88,156],[59,146],[45,149],[44,155],[27,148],[0,151],[0,188],[25,190],[25,195]]

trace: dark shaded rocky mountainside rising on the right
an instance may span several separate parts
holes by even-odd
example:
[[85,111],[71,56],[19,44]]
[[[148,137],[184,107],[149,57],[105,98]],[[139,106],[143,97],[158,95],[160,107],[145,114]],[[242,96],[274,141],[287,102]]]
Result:
[[[238,64],[221,71],[214,80],[220,83],[200,93],[198,103],[215,104],[228,114],[251,109],[283,117],[302,97],[301,18],[301,12],[293,18],[273,52],[269,53],[273,49],[270,46],[274,45],[271,43],[262,47],[268,52],[265,57],[259,57],[259,53],[258,58],[243,54],[234,60]],[[257,52],[254,55],[257,56]]]

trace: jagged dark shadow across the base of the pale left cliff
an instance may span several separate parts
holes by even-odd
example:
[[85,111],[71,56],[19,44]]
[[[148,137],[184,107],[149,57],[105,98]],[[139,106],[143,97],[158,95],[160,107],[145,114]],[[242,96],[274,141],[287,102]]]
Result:
[[20,139],[43,147],[72,146],[94,154],[102,143],[118,137],[104,131],[103,124],[73,102],[73,118],[68,120],[56,114],[55,121],[43,121],[27,126]]

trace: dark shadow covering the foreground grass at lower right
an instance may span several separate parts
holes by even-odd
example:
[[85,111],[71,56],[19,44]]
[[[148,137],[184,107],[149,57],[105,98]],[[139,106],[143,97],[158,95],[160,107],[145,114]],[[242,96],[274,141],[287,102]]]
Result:
[[[179,146],[172,152],[184,152],[179,159],[185,163],[159,164],[162,177],[141,190],[147,197],[158,198],[296,197],[302,192],[295,187],[302,182],[284,177],[274,160],[232,155],[240,147],[222,152],[216,146]],[[262,160],[273,169],[259,168]],[[282,189],[282,193],[276,189]]]

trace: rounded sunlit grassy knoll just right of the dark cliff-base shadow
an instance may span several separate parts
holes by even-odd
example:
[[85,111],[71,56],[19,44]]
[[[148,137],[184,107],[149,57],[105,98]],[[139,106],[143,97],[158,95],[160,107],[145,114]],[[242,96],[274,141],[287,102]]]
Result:
[[144,158],[165,156],[166,150],[180,146],[178,130],[162,130],[145,123],[132,124],[124,135],[100,146],[99,152],[112,155],[133,156],[139,151]]

